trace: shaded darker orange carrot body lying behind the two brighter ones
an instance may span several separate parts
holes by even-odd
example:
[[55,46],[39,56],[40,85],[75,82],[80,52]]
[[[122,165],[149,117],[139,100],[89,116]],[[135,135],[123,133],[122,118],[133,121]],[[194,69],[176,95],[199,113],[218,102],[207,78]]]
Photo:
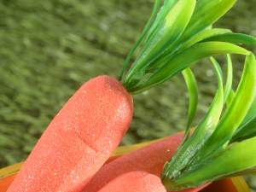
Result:
[[[96,173],[83,191],[97,192],[116,177],[132,171],[148,172],[160,177],[164,164],[167,160],[170,160],[182,139],[183,134],[176,134],[111,161]],[[196,192],[200,189],[185,191]]]

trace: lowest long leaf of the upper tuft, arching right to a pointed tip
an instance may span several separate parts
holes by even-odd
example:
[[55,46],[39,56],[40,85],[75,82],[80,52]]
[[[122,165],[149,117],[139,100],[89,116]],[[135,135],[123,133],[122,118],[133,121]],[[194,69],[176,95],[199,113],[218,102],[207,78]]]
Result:
[[[168,79],[171,79],[175,74],[180,73],[183,69],[189,67],[195,61],[199,61],[202,58],[221,55],[221,54],[241,54],[248,55],[249,51],[243,49],[235,44],[229,44],[224,42],[206,42],[195,44],[189,49],[183,50],[183,52],[173,55],[171,58],[165,58],[166,61],[160,61],[166,63],[163,67],[156,70],[142,84],[138,84],[137,87],[130,87],[131,93],[141,92],[153,87],[157,84],[161,84]],[[129,87],[129,86],[128,86]]]

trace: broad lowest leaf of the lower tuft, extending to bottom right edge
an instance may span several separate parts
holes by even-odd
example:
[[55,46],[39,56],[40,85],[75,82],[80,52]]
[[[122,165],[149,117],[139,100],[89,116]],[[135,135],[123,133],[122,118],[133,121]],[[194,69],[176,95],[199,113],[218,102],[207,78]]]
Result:
[[234,143],[207,160],[190,167],[189,172],[177,178],[173,188],[193,188],[223,177],[239,175],[256,168],[256,137]]

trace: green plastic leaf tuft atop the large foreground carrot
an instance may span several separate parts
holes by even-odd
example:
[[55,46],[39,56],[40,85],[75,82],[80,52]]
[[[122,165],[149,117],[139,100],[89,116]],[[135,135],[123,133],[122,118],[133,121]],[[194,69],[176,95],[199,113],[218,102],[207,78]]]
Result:
[[[153,13],[119,76],[126,89],[133,94],[148,90],[212,55],[249,55],[247,49],[236,44],[256,45],[256,38],[212,27],[235,3],[236,0],[166,0],[162,5],[155,0]],[[138,55],[131,63],[135,51]]]

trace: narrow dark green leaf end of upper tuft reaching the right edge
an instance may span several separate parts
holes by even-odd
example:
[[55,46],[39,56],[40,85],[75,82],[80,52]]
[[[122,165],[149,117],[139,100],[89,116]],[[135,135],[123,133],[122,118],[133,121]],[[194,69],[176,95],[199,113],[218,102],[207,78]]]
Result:
[[256,46],[256,38],[253,36],[242,34],[242,33],[225,33],[225,34],[218,34],[216,36],[212,36],[210,38],[206,38],[203,42],[208,41],[221,41],[221,42],[229,42],[232,44],[247,44]]

